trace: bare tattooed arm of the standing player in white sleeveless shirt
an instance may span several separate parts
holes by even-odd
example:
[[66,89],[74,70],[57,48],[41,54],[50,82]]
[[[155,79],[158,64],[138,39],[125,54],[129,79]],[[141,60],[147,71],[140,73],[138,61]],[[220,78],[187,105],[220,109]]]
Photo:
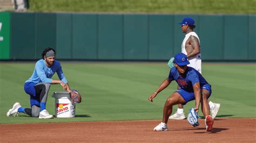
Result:
[[187,58],[190,59],[191,57],[200,53],[200,44],[198,38],[193,35],[191,35],[190,38],[188,38],[188,40],[190,41],[190,44],[193,49],[190,53],[187,53]]

